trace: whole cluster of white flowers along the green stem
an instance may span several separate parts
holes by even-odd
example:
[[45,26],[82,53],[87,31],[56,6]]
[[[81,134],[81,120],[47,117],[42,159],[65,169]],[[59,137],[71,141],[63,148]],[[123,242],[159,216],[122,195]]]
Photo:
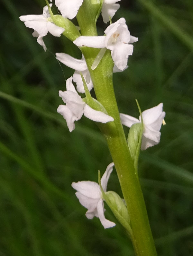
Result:
[[[61,34],[70,34],[70,28],[72,27],[77,32],[77,34],[75,33],[75,36],[70,39],[75,45],[77,45],[78,47],[87,46],[100,49],[97,56],[92,56],[91,59],[95,60],[93,64],[91,63],[91,67],[87,66],[86,55],[85,57],[84,55],[82,55],[81,59],[77,59],[66,53],[56,53],[57,60],[75,70],[74,74],[66,80],[66,91],[59,91],[59,96],[62,98],[65,105],[59,105],[57,109],[57,112],[60,113],[66,120],[70,132],[75,129],[74,122],[78,121],[82,117],[82,115],[86,116],[90,120],[100,123],[108,123],[114,121],[114,118],[108,115],[106,109],[101,103],[97,102],[98,105],[96,108],[101,111],[94,109],[94,103],[96,103],[96,100],[93,100],[91,98],[91,95],[89,94],[89,91],[91,91],[94,87],[91,79],[92,74],[94,74],[92,72],[95,72],[93,70],[97,67],[101,60],[104,60],[103,56],[106,50],[109,50],[111,52],[111,57],[114,62],[113,72],[115,73],[124,71],[128,67],[128,57],[133,54],[133,43],[138,41],[137,37],[130,35],[124,18],[120,18],[116,22],[111,23],[109,26],[107,26],[103,36],[81,35],[75,25],[71,21],[69,21],[69,19],[71,20],[77,15],[80,6],[83,4],[83,1],[84,0],[55,0],[53,2],[58,7],[61,15],[53,15],[53,13],[51,12],[52,3],[48,3],[48,1],[46,0],[47,5],[43,7],[43,13],[41,15],[20,16],[20,20],[24,22],[25,26],[34,30],[32,35],[34,37],[37,37],[37,42],[43,47],[44,51],[46,51],[47,48],[43,41],[43,37],[47,35],[48,32],[53,36],[59,37]],[[96,18],[98,17],[98,11],[101,11],[104,23],[107,23],[109,21],[111,22],[111,18],[115,15],[116,11],[120,6],[119,4],[117,4],[117,2],[119,1],[120,0],[96,1],[98,4],[98,9],[96,10]],[[50,0],[50,2],[52,2],[52,0]],[[55,22],[55,16],[57,16],[58,20],[60,21],[59,23]],[[64,25],[64,20],[65,22],[68,21],[68,25]],[[64,23],[62,23],[62,21]],[[95,17],[94,22],[96,22]],[[108,55],[108,57],[111,59],[110,54]],[[76,83],[76,89],[72,81]],[[85,93],[86,98],[82,99],[78,93]],[[93,105],[88,104],[90,103],[90,101],[88,100],[89,97],[91,100],[93,100]],[[162,111],[162,108],[163,103],[160,103],[159,105],[142,112],[142,150],[145,150],[148,147],[151,147],[160,142],[160,129],[161,124],[164,122],[163,118],[165,116],[165,112]],[[130,115],[121,113],[120,118],[122,124],[128,127],[131,127],[134,123],[142,122],[141,116],[139,117],[139,119],[136,119]],[[115,123],[113,123],[113,125],[116,126]],[[140,129],[141,127],[142,126],[140,126]],[[105,218],[105,209],[103,202],[103,195],[104,197],[106,195],[103,193],[103,191],[106,192],[107,182],[111,172],[113,171],[113,166],[114,163],[110,163],[107,166],[106,171],[101,178],[101,187],[96,182],[91,181],[72,183],[72,187],[77,190],[76,196],[79,202],[87,208],[87,218],[93,219],[94,216],[98,217],[104,228],[110,228],[115,226],[114,222],[111,222]],[[117,196],[115,197],[118,198]],[[120,200],[120,202],[123,203],[122,199]],[[106,199],[106,201],[108,200]],[[119,206],[120,205],[121,204],[119,203]],[[118,208],[119,207],[117,206],[117,209]],[[124,206],[124,208],[126,209],[126,206]],[[127,212],[127,209],[125,209],[124,211]]]

